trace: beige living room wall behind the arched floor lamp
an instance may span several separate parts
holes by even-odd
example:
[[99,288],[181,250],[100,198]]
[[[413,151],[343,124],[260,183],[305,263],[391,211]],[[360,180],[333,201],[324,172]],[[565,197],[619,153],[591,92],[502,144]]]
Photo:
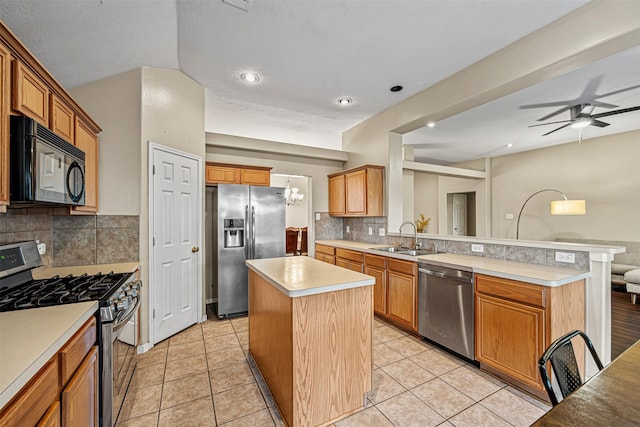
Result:
[[552,188],[585,199],[587,214],[551,216],[549,202],[561,196],[541,193],[525,207],[521,239],[640,241],[639,141],[640,131],[633,131],[492,159],[493,237],[515,238],[524,201]]

